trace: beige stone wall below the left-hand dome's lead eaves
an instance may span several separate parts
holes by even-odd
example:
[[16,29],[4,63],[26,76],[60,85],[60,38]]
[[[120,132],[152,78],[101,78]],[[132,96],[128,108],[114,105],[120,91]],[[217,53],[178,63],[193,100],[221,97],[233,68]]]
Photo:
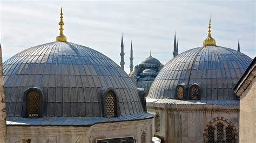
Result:
[[142,132],[146,132],[146,142],[152,141],[153,119],[118,121],[86,126],[26,126],[8,125],[9,142],[31,140],[31,142],[93,142],[98,139],[133,137],[141,142]]

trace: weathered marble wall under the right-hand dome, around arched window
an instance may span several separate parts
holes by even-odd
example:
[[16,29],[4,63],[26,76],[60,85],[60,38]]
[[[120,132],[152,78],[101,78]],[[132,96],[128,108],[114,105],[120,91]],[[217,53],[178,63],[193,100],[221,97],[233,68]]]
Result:
[[[147,111],[160,114],[161,131],[153,134],[155,137],[164,139],[164,142],[206,142],[207,124],[218,120],[234,127],[235,141],[238,142],[239,106],[222,110],[211,108],[207,108],[206,105],[205,109],[197,109],[191,105],[191,108],[186,109],[168,109],[166,106],[165,108],[158,108],[147,103]],[[153,128],[155,128],[154,122]]]

